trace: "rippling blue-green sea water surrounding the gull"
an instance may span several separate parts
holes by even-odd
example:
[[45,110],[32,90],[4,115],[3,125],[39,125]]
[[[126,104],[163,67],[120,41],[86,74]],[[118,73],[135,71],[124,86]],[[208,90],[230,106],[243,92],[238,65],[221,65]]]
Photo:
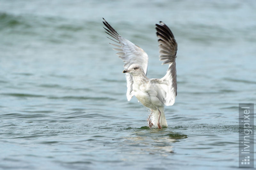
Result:
[[[0,0],[0,169],[238,168],[238,104],[256,101],[256,3]],[[123,62],[102,28],[158,61],[154,24],[178,42],[169,127],[126,100]]]

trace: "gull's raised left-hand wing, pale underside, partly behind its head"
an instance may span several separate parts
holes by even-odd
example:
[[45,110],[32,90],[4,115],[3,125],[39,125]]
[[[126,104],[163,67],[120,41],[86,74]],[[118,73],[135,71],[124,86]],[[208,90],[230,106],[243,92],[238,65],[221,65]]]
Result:
[[[108,22],[103,18],[103,24],[107,27],[104,28],[106,30],[106,33],[112,37],[113,39],[109,38],[112,41],[115,41],[118,45],[109,43],[117,48],[113,48],[114,50],[118,51],[116,53],[119,55],[119,58],[121,58],[124,61],[124,69],[127,69],[131,64],[138,63],[142,66],[145,74],[147,75],[148,70],[148,55],[147,53],[140,48],[139,46],[133,44],[131,41],[126,40],[125,38],[121,37],[116,30],[108,24]],[[132,99],[133,90],[132,90],[132,84],[133,79],[132,75],[126,73],[126,82],[127,82],[127,92],[126,97],[127,100],[130,101]]]

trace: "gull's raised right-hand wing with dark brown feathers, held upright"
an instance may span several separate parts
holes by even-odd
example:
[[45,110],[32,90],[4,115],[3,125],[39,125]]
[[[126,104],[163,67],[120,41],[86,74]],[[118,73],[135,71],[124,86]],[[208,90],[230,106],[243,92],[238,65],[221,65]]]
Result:
[[159,57],[162,64],[169,64],[166,75],[160,79],[151,79],[157,91],[157,97],[166,106],[171,106],[175,102],[177,96],[177,78],[175,58],[177,53],[177,43],[174,39],[172,31],[162,21],[156,24],[156,35],[159,38]]

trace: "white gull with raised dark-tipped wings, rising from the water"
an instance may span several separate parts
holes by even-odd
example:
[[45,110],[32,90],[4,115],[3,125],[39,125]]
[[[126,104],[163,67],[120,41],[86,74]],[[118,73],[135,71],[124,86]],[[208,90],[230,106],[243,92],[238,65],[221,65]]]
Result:
[[151,110],[148,117],[149,128],[162,129],[168,127],[164,115],[164,105],[172,106],[177,96],[176,63],[177,43],[172,31],[162,21],[156,24],[158,38],[159,58],[163,64],[169,64],[163,78],[147,78],[148,55],[139,46],[120,36],[116,30],[103,18],[103,27],[112,37],[110,40],[117,44],[109,43],[117,48],[116,53],[124,61],[124,71],[127,82],[127,100],[135,96],[140,103]]

